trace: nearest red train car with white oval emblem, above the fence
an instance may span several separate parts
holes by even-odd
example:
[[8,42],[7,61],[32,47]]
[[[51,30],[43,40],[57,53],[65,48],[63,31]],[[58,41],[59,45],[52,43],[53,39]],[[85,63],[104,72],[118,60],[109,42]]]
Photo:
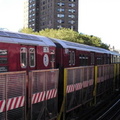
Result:
[[47,39],[0,31],[0,72],[54,68],[56,46]]

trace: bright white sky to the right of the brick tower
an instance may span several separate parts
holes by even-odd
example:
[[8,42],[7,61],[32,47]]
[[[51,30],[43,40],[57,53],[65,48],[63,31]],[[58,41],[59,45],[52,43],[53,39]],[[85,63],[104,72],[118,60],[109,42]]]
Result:
[[120,50],[120,0],[79,0],[79,32]]

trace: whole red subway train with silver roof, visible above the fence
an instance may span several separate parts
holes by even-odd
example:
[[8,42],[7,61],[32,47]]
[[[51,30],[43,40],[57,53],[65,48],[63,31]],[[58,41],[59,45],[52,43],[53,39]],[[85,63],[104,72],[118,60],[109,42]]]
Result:
[[5,31],[0,31],[0,49],[0,72],[120,62],[118,53],[106,49]]

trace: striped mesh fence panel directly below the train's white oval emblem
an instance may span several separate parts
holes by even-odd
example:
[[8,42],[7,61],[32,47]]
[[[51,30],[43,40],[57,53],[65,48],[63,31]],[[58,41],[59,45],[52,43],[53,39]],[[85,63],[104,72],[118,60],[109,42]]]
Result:
[[55,69],[30,72],[31,120],[57,117],[58,73]]

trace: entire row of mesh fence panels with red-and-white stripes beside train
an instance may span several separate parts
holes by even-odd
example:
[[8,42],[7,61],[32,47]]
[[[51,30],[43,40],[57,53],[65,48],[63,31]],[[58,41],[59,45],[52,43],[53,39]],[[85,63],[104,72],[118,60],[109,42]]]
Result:
[[[65,68],[58,119],[93,98],[96,103],[96,97],[106,91],[119,89],[119,68],[119,64]],[[0,73],[0,120],[57,119],[58,74],[58,69],[35,70],[29,75]]]

